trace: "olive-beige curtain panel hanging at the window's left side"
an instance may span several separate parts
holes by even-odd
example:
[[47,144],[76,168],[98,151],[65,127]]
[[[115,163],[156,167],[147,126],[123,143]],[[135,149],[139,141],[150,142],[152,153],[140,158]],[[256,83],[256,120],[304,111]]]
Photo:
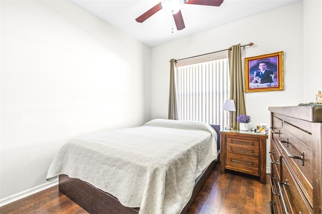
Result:
[[176,95],[176,81],[175,81],[175,69],[177,67],[177,60],[170,60],[170,90],[169,90],[169,120],[178,120],[178,108],[177,108],[177,95]]

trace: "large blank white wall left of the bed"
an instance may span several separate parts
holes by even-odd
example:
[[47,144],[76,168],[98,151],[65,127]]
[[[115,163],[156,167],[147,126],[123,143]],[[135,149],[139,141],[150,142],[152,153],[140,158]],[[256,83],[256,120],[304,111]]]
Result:
[[1,198],[74,136],[150,119],[150,48],[68,1],[1,1]]

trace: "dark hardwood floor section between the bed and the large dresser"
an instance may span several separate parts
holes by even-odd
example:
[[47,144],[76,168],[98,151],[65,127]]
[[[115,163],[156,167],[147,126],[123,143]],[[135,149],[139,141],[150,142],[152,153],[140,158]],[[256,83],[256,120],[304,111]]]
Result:
[[263,184],[259,177],[244,173],[226,170],[221,174],[216,164],[188,213],[270,213],[271,186],[266,176],[268,182]]

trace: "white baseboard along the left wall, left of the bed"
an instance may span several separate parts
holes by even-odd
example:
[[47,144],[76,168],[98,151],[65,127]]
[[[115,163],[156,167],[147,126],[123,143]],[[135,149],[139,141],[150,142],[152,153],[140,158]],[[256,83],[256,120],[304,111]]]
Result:
[[54,180],[54,181],[50,181],[44,184],[41,184],[39,186],[35,186],[33,188],[27,189],[25,191],[22,192],[18,192],[16,194],[10,195],[8,197],[2,198],[0,199],[0,206],[4,206],[7,205],[9,203],[15,202],[17,200],[20,200],[24,197],[27,197],[29,195],[35,194],[37,192],[40,192],[42,190],[48,189],[52,186],[55,186],[58,184],[58,179]]

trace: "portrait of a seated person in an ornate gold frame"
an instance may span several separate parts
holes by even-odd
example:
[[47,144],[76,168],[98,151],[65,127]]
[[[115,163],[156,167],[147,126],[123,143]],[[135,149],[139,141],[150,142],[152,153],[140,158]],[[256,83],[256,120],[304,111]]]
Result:
[[245,58],[245,92],[284,90],[284,52]]

